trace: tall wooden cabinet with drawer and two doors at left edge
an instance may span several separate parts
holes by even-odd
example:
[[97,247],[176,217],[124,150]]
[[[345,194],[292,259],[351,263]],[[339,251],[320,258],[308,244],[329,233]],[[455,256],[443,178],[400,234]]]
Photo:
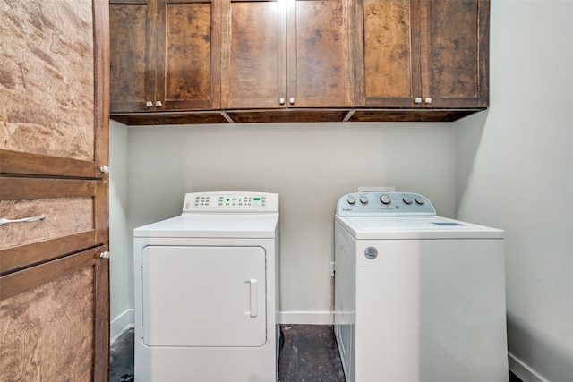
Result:
[[0,381],[109,378],[108,12],[0,2]]

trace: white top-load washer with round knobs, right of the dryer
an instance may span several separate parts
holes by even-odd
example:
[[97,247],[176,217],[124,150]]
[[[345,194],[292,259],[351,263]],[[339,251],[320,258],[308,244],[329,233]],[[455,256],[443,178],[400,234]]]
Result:
[[508,382],[503,231],[410,192],[347,194],[334,225],[347,382]]

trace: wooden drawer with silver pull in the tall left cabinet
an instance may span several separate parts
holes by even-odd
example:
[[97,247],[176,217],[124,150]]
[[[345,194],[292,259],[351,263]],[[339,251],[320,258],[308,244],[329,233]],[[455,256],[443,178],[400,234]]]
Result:
[[57,259],[104,242],[97,223],[105,202],[96,198],[102,181],[2,178],[0,218],[43,220],[0,226],[0,274]]

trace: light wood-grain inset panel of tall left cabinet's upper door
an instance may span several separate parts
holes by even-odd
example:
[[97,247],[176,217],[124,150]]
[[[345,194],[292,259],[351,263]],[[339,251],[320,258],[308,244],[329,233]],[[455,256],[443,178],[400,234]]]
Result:
[[93,160],[91,1],[4,1],[0,20],[0,149]]

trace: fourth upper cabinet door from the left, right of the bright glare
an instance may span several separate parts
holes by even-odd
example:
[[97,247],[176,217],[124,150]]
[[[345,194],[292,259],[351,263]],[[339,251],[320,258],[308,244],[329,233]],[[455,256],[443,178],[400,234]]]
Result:
[[350,106],[352,1],[287,0],[287,101]]

